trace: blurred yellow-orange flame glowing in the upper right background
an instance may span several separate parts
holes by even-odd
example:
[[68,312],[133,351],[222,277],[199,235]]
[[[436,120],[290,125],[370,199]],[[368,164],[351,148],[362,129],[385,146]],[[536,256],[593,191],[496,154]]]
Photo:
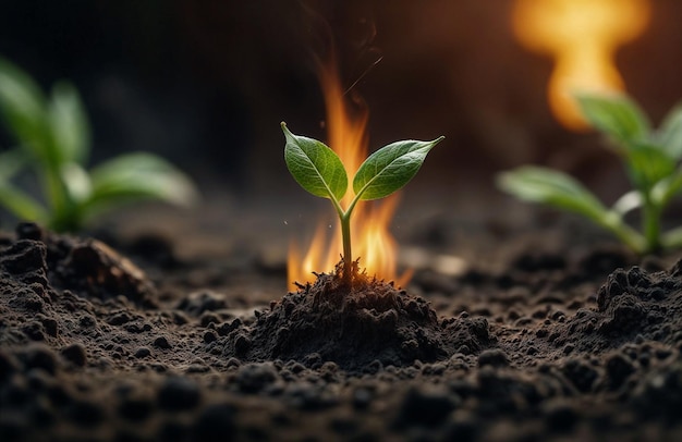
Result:
[[647,0],[516,0],[514,33],[528,49],[555,58],[549,105],[564,126],[587,127],[571,94],[624,89],[614,64],[619,46],[649,21]]

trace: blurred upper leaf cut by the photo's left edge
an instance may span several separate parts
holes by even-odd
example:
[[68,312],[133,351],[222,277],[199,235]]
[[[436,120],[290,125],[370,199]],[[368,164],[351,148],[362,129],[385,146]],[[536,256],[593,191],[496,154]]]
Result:
[[49,143],[46,99],[20,67],[0,58],[0,113],[10,133],[37,158]]

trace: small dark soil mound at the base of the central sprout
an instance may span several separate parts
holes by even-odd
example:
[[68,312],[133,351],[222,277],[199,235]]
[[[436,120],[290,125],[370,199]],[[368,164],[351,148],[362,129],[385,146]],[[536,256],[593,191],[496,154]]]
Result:
[[251,360],[333,361],[363,371],[474,354],[490,344],[484,318],[439,319],[422,297],[362,274],[349,286],[339,270],[272,303],[231,337],[234,354]]

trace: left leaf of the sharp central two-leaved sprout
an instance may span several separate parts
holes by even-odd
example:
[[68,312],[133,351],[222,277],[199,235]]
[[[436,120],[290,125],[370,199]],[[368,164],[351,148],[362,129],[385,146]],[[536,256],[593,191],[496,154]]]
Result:
[[294,180],[307,192],[339,201],[348,189],[348,175],[337,154],[317,139],[291,133],[282,122],[287,137],[284,161]]

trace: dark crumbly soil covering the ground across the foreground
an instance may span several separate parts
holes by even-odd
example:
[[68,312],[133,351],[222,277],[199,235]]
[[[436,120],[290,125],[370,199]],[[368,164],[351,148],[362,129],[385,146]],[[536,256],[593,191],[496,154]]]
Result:
[[0,440],[682,440],[682,262],[485,236],[512,251],[281,296],[263,260],[22,224],[0,236]]

